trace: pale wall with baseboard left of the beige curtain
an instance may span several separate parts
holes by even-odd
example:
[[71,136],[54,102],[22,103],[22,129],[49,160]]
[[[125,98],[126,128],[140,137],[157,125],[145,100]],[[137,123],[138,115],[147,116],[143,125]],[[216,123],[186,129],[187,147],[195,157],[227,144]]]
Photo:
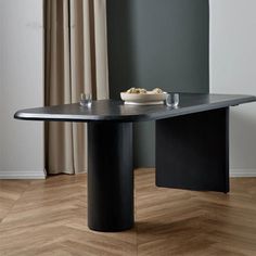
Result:
[[43,104],[42,0],[0,0],[0,178],[42,178],[43,124],[14,120]]

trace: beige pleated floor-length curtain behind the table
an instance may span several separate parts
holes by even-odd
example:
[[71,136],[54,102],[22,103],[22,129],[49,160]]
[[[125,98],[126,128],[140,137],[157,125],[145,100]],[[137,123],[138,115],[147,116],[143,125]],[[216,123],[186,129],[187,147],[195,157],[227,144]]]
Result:
[[[105,0],[46,0],[46,105],[108,98]],[[46,124],[48,174],[87,169],[85,124]]]

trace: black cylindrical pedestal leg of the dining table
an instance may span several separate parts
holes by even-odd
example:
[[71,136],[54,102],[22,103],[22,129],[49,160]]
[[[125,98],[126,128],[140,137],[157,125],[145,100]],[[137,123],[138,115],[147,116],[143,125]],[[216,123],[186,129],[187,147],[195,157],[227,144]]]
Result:
[[88,226],[120,231],[133,226],[131,123],[88,124]]

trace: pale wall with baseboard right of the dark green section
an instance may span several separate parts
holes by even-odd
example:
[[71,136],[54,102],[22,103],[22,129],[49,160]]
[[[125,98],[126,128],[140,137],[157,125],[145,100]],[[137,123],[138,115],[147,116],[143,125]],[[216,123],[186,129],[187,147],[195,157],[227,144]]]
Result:
[[[256,0],[210,0],[210,92],[256,95]],[[232,176],[256,176],[256,103],[231,108]]]

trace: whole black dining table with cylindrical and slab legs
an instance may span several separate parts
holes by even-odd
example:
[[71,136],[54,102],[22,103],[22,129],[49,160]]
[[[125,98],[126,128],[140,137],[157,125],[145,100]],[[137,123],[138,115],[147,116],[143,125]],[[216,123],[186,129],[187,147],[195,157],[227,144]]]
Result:
[[133,123],[155,121],[157,187],[228,193],[229,110],[255,101],[254,95],[180,93],[178,107],[99,100],[91,107],[21,110],[14,117],[87,123],[88,226],[121,231],[135,223]]

